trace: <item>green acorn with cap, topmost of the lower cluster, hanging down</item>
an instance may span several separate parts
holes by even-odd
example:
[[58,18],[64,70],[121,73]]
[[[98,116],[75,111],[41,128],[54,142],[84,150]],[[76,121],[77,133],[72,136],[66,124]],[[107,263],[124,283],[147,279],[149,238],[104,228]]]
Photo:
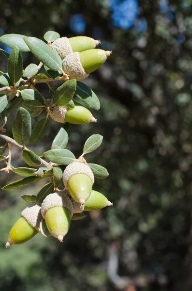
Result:
[[76,202],[85,204],[92,191],[94,175],[89,165],[72,162],[63,172],[63,183]]

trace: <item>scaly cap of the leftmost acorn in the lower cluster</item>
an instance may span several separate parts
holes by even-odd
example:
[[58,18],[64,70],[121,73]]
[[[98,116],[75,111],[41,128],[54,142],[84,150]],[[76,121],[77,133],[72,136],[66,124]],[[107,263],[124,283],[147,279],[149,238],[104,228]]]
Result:
[[40,232],[40,222],[43,219],[41,214],[41,206],[34,203],[26,207],[22,212],[21,216],[27,220],[30,226],[34,227],[38,232]]

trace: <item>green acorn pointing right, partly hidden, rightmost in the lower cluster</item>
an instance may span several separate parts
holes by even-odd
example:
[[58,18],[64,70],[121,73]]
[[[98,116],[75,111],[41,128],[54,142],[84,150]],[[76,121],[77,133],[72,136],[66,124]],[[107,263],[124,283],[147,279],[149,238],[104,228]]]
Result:
[[113,203],[110,202],[100,192],[92,190],[89,199],[85,202],[84,210],[85,211],[100,210],[106,206],[113,206]]

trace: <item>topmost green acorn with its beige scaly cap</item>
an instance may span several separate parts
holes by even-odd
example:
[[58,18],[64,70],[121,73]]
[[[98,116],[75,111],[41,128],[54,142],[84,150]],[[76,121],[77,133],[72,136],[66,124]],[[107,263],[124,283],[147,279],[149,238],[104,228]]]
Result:
[[99,43],[99,40],[88,36],[60,37],[51,44],[51,48],[56,50],[63,60],[71,52],[94,49]]

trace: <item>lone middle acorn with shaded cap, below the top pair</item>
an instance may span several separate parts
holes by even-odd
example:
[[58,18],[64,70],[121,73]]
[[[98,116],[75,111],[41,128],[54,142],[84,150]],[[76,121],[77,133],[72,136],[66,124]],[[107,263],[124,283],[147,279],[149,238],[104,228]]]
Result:
[[[97,122],[97,119],[93,117],[91,112],[81,104],[75,102],[75,107],[70,108],[68,106],[54,106],[51,107],[51,99],[46,100],[47,106],[49,106],[49,115],[57,122],[69,122],[72,124],[86,124],[89,122]],[[49,105],[48,105],[49,104]]]

